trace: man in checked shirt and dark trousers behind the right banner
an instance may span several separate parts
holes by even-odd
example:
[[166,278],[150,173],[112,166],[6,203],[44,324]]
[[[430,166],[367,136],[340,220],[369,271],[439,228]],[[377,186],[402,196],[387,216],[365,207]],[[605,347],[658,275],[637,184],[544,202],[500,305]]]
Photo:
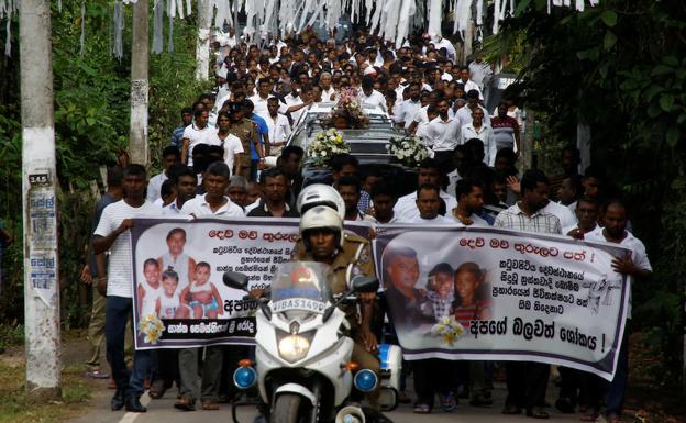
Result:
[[[541,170],[528,170],[521,181],[521,201],[496,218],[495,227],[524,232],[561,234],[560,219],[543,208],[549,203],[549,180]],[[550,365],[531,361],[507,361],[506,377],[508,397],[504,414],[519,414],[522,408],[534,419],[550,419],[543,409]]]

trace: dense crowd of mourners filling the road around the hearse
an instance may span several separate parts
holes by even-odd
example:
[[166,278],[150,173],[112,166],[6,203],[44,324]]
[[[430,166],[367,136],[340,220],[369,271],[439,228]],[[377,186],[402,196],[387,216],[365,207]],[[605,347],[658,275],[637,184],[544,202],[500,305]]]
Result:
[[[480,57],[469,66],[457,66],[450,41],[417,37],[394,48],[363,30],[336,44],[318,38],[308,29],[263,48],[246,45],[233,34],[214,47],[215,90],[181,110],[181,124],[162,152],[163,171],[148,180],[141,165],[110,168],[108,192],[96,210],[91,255],[84,274],[98,288],[89,365],[93,377],[108,377],[99,361],[104,334],[115,389],[113,410],[145,411],[140,397],[151,375],[151,398],[161,398],[176,381],[179,397],[175,407],[195,410],[200,401],[203,409],[217,410],[219,402],[235,396],[226,375],[234,366],[232,357],[241,356],[239,349],[243,348],[207,347],[200,358],[197,348],[157,354],[136,350],[129,353],[133,355],[129,376],[125,338],[132,311],[131,244],[122,234],[132,226],[131,219],[299,216],[296,199],[303,188],[300,167],[305,152],[287,146],[286,141],[312,104],[335,102],[343,89],[357,90],[362,103],[380,108],[398,130],[421,137],[432,156],[419,164],[417,189],[405,196],[383,175],[363,174],[353,155],[333,157],[333,187],[345,204],[345,220],[491,225],[610,242],[633,251],[632,257],[615,260],[617,271],[637,278],[650,276],[645,248],[631,234],[627,208],[610,189],[602,168],[590,166],[580,171],[578,151],[567,147],[552,178],[538,169],[518,170],[523,133],[520,109],[514,99],[506,99],[495,110],[486,110],[484,92],[490,66]],[[434,305],[441,310],[449,307],[441,305],[439,297]],[[595,376],[560,368],[562,389],[555,401],[560,411],[584,410],[582,420],[595,421],[602,405],[599,392],[607,391],[609,421],[620,421],[628,336],[623,339],[617,375],[607,386]],[[203,363],[200,378],[199,359]],[[436,394],[446,411],[455,409],[462,394],[469,396],[475,407],[493,404],[491,364],[454,366],[449,360],[429,359],[413,361],[411,367],[417,413],[430,413]],[[152,371],[155,368],[157,371]],[[441,372],[454,378],[443,378],[439,386],[432,378]],[[524,411],[547,419],[550,366],[508,361],[505,372],[508,397],[502,412]]]

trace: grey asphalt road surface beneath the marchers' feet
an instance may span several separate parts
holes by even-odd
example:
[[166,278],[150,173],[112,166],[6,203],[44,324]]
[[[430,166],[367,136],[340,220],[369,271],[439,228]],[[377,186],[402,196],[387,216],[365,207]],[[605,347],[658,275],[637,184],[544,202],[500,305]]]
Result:
[[[99,389],[95,394],[93,410],[88,414],[81,416],[71,423],[232,423],[231,421],[231,408],[229,404],[221,404],[219,411],[203,411],[201,409],[193,412],[182,412],[174,409],[173,404],[176,400],[176,391],[168,391],[162,399],[151,400],[147,394],[144,396],[141,401],[147,405],[147,413],[126,413],[123,411],[112,412],[109,408],[109,400],[113,391],[106,388],[106,382],[102,385],[102,389]],[[410,383],[411,385],[411,383]],[[551,383],[547,391],[547,400],[554,403],[556,398],[556,389]],[[505,415],[500,411],[505,402],[506,390],[501,385],[496,386],[494,391],[494,405],[490,408],[474,408],[466,403],[466,400],[461,400],[461,403],[452,413],[445,413],[443,411],[434,411],[431,414],[414,414],[412,413],[411,404],[401,404],[395,411],[387,413],[394,423],[505,423],[505,422],[534,422],[536,420],[521,415]],[[199,405],[199,404],[198,404]],[[562,423],[562,422],[579,422],[580,415],[577,414],[561,414],[554,408],[547,409],[551,413],[551,419],[547,422]],[[254,408],[242,408],[239,411],[239,421],[241,423],[252,423],[256,415]],[[599,419],[598,422],[605,423],[604,419]]]

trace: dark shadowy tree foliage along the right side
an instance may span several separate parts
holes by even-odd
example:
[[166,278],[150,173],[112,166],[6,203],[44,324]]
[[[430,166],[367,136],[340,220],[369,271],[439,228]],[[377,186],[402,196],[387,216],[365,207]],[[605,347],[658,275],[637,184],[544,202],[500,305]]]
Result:
[[[655,274],[634,285],[634,327],[653,339],[681,379],[686,275],[686,7],[683,2],[608,0],[583,13],[520,1],[494,45],[523,64],[521,92],[544,120],[547,145],[591,127],[593,163],[630,202],[637,235]],[[518,43],[514,45],[513,43]]]

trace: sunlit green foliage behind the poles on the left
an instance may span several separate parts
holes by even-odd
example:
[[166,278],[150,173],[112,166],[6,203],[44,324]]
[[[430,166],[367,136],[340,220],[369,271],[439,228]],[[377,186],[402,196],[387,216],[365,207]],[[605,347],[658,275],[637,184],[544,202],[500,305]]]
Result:
[[[152,8],[151,8],[152,10]],[[81,3],[53,4],[53,75],[55,142],[58,175],[58,231],[63,322],[81,326],[89,318],[89,292],[79,281],[86,263],[91,210],[100,182],[100,167],[114,164],[117,153],[129,143],[131,8],[125,8],[124,57],[110,55],[113,41],[112,5],[89,0],[86,33],[80,54]],[[151,13],[151,36],[152,36]],[[18,33],[16,22],[12,32]],[[165,29],[167,30],[167,29]],[[4,45],[5,32],[0,31]],[[196,24],[175,22],[176,53],[152,55],[150,62],[150,145],[153,169],[162,147],[179,124],[179,111],[190,105],[207,85],[195,82]],[[165,35],[165,41],[167,40]],[[21,321],[23,315],[23,258],[21,243],[22,176],[19,99],[19,44],[12,40],[13,57],[0,58],[0,218],[18,241],[2,259],[0,322]],[[46,62],[46,66],[49,63]],[[158,166],[157,166],[158,167]],[[151,169],[151,172],[155,170]],[[95,188],[95,189],[93,189]]]

